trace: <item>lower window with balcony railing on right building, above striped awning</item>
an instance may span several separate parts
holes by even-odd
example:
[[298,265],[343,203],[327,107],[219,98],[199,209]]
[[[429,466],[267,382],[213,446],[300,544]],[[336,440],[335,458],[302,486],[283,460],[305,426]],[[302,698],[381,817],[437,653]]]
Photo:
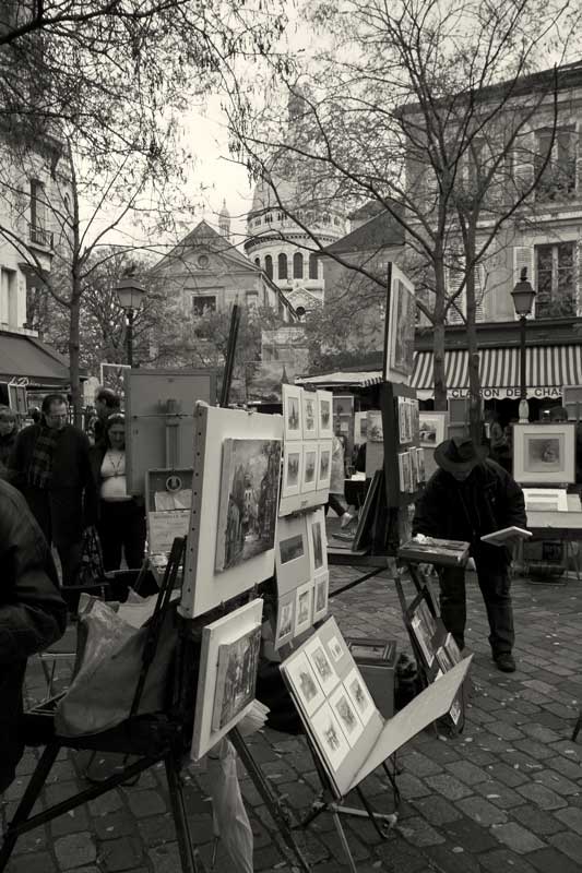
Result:
[[538,319],[575,315],[575,243],[535,247]]

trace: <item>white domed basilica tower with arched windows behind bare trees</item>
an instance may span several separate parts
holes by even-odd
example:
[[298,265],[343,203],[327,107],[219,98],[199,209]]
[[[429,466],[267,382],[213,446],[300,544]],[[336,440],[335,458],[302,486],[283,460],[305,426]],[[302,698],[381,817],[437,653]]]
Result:
[[[300,98],[292,100],[289,139],[301,125],[301,113]],[[323,302],[325,284],[323,264],[316,254],[320,249],[301,225],[325,248],[345,236],[346,216],[342,205],[325,194],[324,182],[313,180],[310,186],[306,181],[299,159],[280,155],[272,167],[269,178],[254,189],[245,251],[302,318]]]

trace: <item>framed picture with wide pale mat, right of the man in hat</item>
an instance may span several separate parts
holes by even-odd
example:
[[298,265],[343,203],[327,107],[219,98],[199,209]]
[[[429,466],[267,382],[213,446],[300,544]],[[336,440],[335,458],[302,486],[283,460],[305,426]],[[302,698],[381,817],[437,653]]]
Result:
[[575,481],[575,422],[513,424],[513,478],[520,483]]

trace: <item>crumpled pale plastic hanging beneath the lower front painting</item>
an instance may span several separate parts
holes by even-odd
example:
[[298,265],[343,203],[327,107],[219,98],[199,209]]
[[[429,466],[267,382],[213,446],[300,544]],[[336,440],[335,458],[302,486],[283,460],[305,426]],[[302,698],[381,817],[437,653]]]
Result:
[[235,864],[237,873],[252,873],[252,828],[242,802],[237,774],[237,753],[223,740],[218,757],[209,755],[210,793],[214,834]]

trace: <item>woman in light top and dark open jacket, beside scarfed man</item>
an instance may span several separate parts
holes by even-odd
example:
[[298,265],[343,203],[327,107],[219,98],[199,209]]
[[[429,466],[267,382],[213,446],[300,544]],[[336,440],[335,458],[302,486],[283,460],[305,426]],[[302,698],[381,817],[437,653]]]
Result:
[[104,439],[90,450],[98,494],[97,531],[106,572],[119,570],[121,550],[130,570],[143,563],[145,509],[128,493],[126,478],[126,419],[114,412],[105,421]]

